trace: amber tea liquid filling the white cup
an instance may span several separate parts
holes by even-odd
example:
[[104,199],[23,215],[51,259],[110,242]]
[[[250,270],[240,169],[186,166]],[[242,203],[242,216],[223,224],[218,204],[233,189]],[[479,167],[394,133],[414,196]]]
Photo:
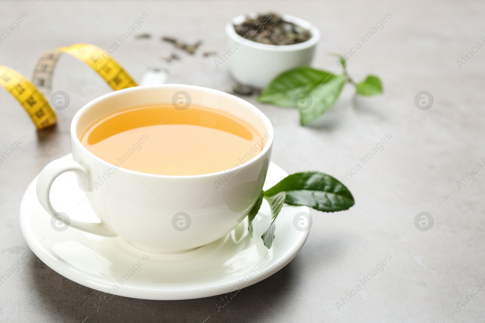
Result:
[[234,168],[254,158],[268,136],[216,109],[172,105],[135,107],[89,127],[81,143],[125,169],[160,175],[199,175]]

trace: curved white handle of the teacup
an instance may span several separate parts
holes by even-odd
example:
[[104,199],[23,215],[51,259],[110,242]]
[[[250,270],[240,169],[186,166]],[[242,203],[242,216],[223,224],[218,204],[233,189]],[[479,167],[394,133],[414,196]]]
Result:
[[[56,159],[50,162],[40,172],[39,177],[37,178],[36,187],[37,198],[39,199],[40,204],[50,215],[57,213],[52,206],[52,203],[50,203],[50,187],[59,175],[68,171],[72,171],[76,174],[76,177],[78,178],[78,185],[83,191],[90,191],[88,170],[84,166],[72,159]],[[78,230],[103,237],[117,236],[117,234],[113,230],[109,229],[103,222],[93,223],[70,219],[70,226]]]

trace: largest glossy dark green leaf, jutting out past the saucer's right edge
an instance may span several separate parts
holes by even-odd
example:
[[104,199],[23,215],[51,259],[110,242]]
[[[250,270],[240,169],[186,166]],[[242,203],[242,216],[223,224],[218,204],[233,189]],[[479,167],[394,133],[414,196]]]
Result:
[[347,210],[354,205],[354,197],[334,177],[318,172],[305,171],[285,177],[264,192],[266,199],[286,192],[285,203],[306,205],[323,212]]

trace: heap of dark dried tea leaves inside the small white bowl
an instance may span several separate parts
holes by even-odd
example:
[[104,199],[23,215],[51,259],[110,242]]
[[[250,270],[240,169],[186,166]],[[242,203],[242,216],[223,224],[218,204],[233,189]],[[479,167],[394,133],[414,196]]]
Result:
[[311,38],[310,31],[275,13],[259,14],[255,19],[246,16],[242,24],[234,25],[234,30],[246,39],[269,45],[293,45]]

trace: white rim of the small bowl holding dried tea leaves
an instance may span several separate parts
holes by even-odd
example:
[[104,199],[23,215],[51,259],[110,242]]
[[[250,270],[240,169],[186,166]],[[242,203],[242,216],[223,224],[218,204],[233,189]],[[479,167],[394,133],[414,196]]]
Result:
[[[311,33],[310,39],[303,43],[298,43],[298,44],[292,44],[292,45],[271,45],[271,44],[262,44],[258,43],[252,40],[243,38],[241,35],[239,35],[236,30],[234,29],[234,24],[240,24],[242,23],[245,19],[246,16],[249,16],[251,18],[256,18],[258,16],[257,13],[249,13],[249,14],[243,14],[243,15],[238,15],[234,18],[231,19],[230,25],[226,25],[226,34],[233,40],[233,41],[239,41],[241,42],[242,39],[245,40],[244,45],[248,47],[253,47],[257,49],[262,49],[262,50],[268,50],[268,51],[293,51],[293,50],[299,50],[299,49],[304,49],[308,48],[311,46],[314,46],[315,44],[318,43],[320,40],[320,31],[318,28],[310,24],[307,20],[292,16],[292,15],[281,15],[281,18],[283,20],[292,22],[295,25],[298,25],[306,30],[309,30]],[[262,24],[262,23],[261,23]]]

